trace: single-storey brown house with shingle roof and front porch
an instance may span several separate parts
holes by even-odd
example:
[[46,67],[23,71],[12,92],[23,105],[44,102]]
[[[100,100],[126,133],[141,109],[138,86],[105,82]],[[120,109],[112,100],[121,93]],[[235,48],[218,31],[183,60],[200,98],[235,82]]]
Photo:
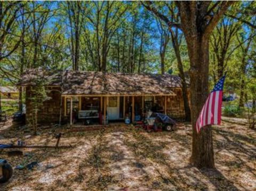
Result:
[[51,99],[43,103],[38,122],[73,123],[91,119],[139,120],[147,110],[172,118],[185,118],[181,79],[170,74],[103,73],[85,71],[28,70],[18,86],[26,88],[26,117],[31,118],[31,88],[36,78],[45,78]]

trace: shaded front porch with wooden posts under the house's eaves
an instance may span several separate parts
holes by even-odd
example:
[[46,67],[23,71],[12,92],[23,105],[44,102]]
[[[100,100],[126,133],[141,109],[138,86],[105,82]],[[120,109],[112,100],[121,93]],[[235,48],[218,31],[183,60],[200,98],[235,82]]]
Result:
[[[108,124],[108,122],[140,121],[148,110],[167,114],[170,95],[95,96],[63,95],[63,115],[70,125],[77,123]],[[88,123],[88,124],[90,124]]]

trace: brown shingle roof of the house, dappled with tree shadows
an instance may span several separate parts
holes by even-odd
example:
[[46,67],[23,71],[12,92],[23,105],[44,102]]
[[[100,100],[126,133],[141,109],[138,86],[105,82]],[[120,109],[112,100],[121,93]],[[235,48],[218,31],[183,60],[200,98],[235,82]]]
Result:
[[50,79],[49,86],[61,86],[62,95],[174,95],[171,89],[181,87],[181,79],[170,74],[70,70],[29,70],[22,75],[18,85],[34,85],[33,79],[37,77]]

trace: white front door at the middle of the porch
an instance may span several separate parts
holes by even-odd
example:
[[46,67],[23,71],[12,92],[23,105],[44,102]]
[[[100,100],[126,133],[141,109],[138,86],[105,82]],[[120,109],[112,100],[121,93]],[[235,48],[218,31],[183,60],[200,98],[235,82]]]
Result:
[[119,119],[119,97],[108,97],[108,120]]

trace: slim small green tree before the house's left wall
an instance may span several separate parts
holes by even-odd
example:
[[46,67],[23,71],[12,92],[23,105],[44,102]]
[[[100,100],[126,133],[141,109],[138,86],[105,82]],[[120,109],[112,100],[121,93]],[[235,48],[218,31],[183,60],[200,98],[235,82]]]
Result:
[[45,78],[33,79],[33,86],[30,87],[30,104],[31,104],[31,120],[29,121],[30,127],[34,130],[34,135],[37,134],[37,118],[38,111],[43,106],[43,102],[49,99],[45,85],[48,84]]

